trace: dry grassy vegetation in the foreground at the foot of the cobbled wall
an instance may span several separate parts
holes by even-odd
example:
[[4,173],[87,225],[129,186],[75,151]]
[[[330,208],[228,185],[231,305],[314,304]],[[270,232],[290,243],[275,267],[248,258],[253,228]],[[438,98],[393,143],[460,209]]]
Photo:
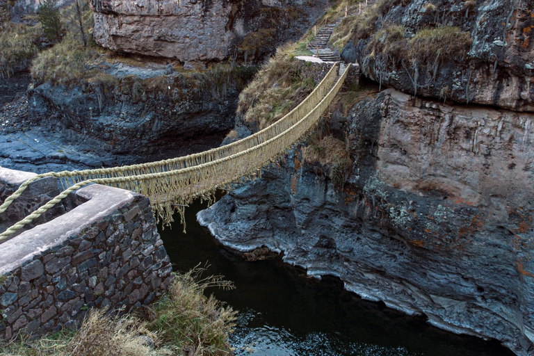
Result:
[[80,330],[0,343],[0,356],[230,355],[227,337],[236,312],[204,291],[232,284],[218,276],[201,279],[202,272],[177,275],[164,298],[141,309],[143,318],[92,309]]

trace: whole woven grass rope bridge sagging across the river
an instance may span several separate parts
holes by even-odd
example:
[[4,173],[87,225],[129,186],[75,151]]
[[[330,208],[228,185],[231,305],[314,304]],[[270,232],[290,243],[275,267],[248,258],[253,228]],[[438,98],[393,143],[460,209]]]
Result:
[[63,192],[0,234],[0,241],[31,223],[72,191],[91,183],[141,193],[149,197],[158,221],[172,223],[172,214],[179,211],[184,222],[184,207],[196,197],[211,197],[218,188],[225,188],[238,179],[256,177],[261,173],[261,168],[298,142],[330,106],[343,86],[347,73],[348,67],[336,82],[336,65],[332,65],[312,93],[282,119],[223,147],[150,163],[36,175],[6,198],[0,206],[0,213],[6,211],[13,200],[37,179],[56,177],[60,180]]

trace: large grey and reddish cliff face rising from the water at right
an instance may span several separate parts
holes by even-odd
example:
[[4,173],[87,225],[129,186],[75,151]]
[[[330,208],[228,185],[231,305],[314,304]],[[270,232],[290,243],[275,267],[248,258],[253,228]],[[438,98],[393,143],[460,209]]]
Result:
[[386,90],[332,120],[355,162],[343,187],[292,152],[198,218],[243,252],[446,330],[534,352],[534,115]]

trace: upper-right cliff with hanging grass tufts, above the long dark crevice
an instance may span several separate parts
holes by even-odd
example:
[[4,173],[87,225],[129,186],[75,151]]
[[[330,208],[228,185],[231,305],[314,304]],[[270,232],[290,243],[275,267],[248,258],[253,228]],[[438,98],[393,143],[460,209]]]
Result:
[[533,9],[533,0],[379,1],[342,57],[403,92],[534,111]]

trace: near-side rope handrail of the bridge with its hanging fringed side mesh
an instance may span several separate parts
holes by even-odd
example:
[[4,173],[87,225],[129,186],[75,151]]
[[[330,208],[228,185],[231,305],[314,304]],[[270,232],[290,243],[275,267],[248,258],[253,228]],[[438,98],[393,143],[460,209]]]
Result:
[[[348,67],[350,67],[350,64]],[[172,213],[179,211],[181,220],[184,222],[184,206],[193,201],[195,197],[204,194],[211,195],[216,189],[225,187],[238,179],[253,178],[259,175],[261,168],[266,163],[273,161],[288,147],[296,143],[306,131],[313,127],[321,118],[326,108],[330,106],[337,92],[341,89],[348,74],[348,67],[340,76],[337,83],[334,84],[314,108],[290,127],[277,133],[276,136],[268,138],[264,142],[258,143],[248,149],[243,149],[240,152],[186,168],[140,175],[99,177],[78,181],[36,211],[33,211],[26,218],[15,223],[6,232],[0,234],[0,241],[17,232],[18,229],[21,229],[26,224],[31,223],[35,218],[38,218],[42,213],[67,197],[72,191],[91,183],[114,185],[119,188],[144,194],[149,197],[152,209],[156,212],[156,218],[158,220],[161,219],[166,224],[171,223]],[[333,69],[334,67],[332,67],[330,72]],[[221,172],[224,172],[224,174]]]

